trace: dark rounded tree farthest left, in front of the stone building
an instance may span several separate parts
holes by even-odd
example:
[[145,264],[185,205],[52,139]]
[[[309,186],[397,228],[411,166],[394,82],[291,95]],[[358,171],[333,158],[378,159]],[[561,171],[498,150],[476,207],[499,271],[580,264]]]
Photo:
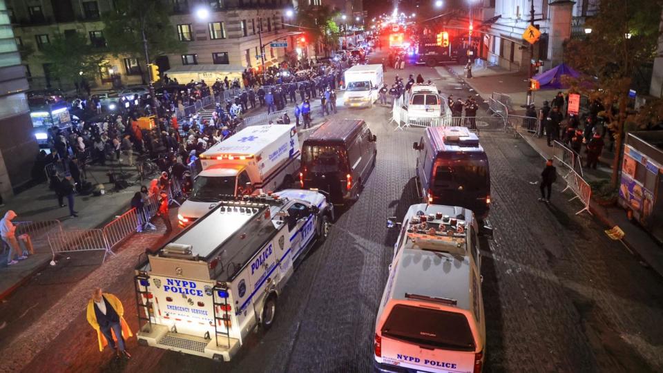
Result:
[[41,59],[50,64],[50,72],[61,82],[74,83],[79,79],[94,79],[104,61],[103,48],[88,44],[80,32],[55,35],[49,44],[41,47]]

